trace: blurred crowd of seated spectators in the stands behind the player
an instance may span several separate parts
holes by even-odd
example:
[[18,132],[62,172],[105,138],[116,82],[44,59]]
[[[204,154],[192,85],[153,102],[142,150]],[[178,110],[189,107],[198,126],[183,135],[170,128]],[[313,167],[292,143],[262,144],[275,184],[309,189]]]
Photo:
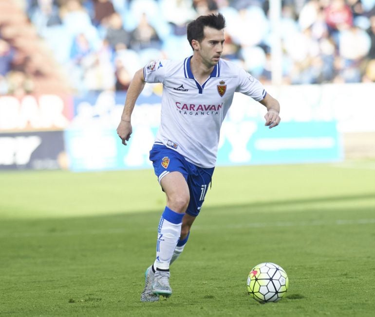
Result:
[[[150,60],[185,58],[192,53],[188,21],[216,12],[227,24],[223,58],[271,83],[266,0],[18,2],[77,94],[126,91],[134,72]],[[283,84],[375,82],[375,0],[282,0],[278,28]],[[3,31],[0,24],[0,94],[12,92],[20,80],[32,90],[27,69],[14,71],[17,50]]]

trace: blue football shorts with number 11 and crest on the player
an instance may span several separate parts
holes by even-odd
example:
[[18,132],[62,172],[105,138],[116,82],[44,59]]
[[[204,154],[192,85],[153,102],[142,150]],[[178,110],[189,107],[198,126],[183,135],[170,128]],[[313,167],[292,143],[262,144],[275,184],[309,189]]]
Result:
[[154,144],[150,160],[160,183],[170,172],[180,172],[186,179],[190,201],[186,213],[196,217],[201,211],[205,196],[211,183],[214,167],[203,168],[188,162],[181,154],[162,144]]

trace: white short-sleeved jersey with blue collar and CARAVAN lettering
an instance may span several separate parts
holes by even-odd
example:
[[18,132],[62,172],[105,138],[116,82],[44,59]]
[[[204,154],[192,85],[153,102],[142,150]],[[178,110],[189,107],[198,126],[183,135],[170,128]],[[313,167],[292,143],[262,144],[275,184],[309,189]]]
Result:
[[248,72],[224,59],[201,85],[191,72],[191,57],[180,62],[156,60],[143,69],[147,83],[163,84],[155,143],[174,149],[197,166],[210,168],[216,163],[220,127],[234,93],[262,101],[266,91]]

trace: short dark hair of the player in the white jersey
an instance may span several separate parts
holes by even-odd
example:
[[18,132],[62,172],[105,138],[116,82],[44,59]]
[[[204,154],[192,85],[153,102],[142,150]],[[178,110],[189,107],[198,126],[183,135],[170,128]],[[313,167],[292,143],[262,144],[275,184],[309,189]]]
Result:
[[200,16],[187,24],[187,40],[189,41],[191,48],[193,48],[191,45],[193,39],[198,42],[203,40],[203,37],[205,36],[203,29],[205,26],[216,30],[223,30],[225,28],[225,18],[220,13],[209,14],[207,16]]

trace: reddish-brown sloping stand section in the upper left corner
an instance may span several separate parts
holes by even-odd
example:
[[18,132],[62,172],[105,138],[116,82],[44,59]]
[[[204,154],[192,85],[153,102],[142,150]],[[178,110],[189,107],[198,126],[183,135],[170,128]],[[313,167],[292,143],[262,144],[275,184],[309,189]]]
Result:
[[0,1],[0,93],[67,93],[59,68],[17,1]]

